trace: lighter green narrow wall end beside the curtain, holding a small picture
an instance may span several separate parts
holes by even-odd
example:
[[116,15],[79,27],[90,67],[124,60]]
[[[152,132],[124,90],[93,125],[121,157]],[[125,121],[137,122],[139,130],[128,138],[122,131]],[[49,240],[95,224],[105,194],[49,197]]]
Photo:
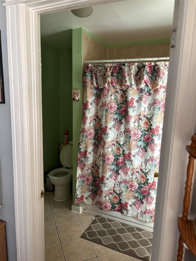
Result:
[[76,191],[77,151],[82,121],[82,28],[72,30],[73,89],[80,90],[80,101],[73,101],[73,204]]

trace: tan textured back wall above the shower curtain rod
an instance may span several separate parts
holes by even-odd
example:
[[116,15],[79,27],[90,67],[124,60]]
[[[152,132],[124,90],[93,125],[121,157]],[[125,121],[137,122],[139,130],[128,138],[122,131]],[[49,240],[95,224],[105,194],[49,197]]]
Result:
[[169,56],[170,43],[108,48],[108,59],[131,59]]

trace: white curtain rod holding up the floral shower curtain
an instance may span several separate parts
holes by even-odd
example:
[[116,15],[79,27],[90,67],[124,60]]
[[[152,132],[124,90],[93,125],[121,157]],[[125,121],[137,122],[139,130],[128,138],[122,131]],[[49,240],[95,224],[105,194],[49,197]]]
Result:
[[153,61],[168,61],[169,57],[151,57],[151,58],[133,58],[133,59],[111,59],[111,60],[94,60],[84,61],[84,63],[118,63],[118,62],[153,62]]

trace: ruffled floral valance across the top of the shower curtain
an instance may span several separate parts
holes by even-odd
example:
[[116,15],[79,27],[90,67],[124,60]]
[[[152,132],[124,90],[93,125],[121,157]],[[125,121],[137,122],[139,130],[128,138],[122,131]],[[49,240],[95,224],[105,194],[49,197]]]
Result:
[[88,88],[166,88],[168,62],[86,65],[83,86]]

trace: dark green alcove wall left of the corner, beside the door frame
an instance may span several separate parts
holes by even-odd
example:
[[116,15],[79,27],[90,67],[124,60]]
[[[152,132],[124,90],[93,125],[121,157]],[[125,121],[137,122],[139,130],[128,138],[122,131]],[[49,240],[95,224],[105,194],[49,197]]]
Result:
[[60,126],[60,50],[41,43],[42,58],[42,115],[43,169],[59,167]]

